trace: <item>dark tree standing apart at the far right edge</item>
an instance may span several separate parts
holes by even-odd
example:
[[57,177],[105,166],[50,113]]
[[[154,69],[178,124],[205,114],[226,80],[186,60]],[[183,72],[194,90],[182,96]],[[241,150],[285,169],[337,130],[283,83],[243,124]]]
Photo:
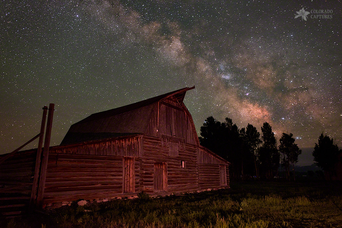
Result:
[[318,144],[315,143],[312,156],[314,156],[315,164],[324,170],[329,179],[334,175],[338,153],[339,147],[334,144],[334,140],[327,135],[323,136],[321,133]]

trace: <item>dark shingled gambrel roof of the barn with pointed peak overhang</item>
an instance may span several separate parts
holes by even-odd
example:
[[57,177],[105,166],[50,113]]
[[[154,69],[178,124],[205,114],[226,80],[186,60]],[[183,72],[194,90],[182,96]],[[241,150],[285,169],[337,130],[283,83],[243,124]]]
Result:
[[195,87],[185,87],[116,109],[94,113],[71,125],[61,145],[145,133],[158,102],[174,96],[182,103],[186,91],[193,88]]

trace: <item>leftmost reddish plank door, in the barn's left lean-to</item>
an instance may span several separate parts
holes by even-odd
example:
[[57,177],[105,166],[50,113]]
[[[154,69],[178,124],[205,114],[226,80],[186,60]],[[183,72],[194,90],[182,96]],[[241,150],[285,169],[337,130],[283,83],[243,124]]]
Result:
[[134,158],[123,157],[122,192],[134,193]]

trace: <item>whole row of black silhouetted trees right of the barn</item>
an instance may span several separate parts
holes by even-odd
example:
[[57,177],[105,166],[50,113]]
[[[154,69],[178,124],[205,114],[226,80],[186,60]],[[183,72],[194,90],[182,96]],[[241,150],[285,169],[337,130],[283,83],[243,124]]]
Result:
[[[231,118],[225,118],[221,123],[209,116],[200,128],[199,142],[231,162],[229,172],[231,178],[237,180],[252,177],[272,179],[278,176],[280,166],[285,169],[286,178],[290,179],[290,170],[294,172],[294,165],[302,153],[292,133],[282,133],[278,145],[267,122],[263,123],[260,133],[251,124],[239,129]],[[336,162],[338,153],[333,139],[322,133],[313,152],[316,165],[333,175],[331,167],[334,167],[332,163]]]

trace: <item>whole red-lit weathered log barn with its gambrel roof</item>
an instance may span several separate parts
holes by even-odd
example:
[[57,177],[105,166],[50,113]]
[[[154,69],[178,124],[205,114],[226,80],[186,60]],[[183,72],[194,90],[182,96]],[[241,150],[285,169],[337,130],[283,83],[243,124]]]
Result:
[[[50,147],[47,168],[40,174],[44,181],[37,188],[32,187],[37,149],[6,160],[0,175],[25,180],[22,189],[38,206],[141,191],[157,196],[227,188],[229,162],[199,144],[183,103],[193,88],[95,113],[71,125],[61,144]],[[20,167],[21,174],[13,167]]]

